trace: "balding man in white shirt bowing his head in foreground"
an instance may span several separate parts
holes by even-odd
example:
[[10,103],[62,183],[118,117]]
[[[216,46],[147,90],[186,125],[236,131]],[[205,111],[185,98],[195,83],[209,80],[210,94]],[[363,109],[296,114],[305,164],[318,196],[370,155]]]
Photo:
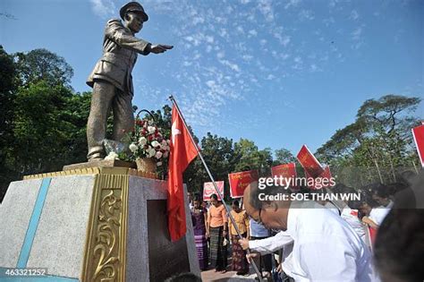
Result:
[[315,201],[259,201],[262,192],[287,191],[281,186],[259,190],[254,183],[244,192],[251,218],[293,238],[292,266],[284,269],[287,275],[295,281],[375,281],[368,248],[342,218]]

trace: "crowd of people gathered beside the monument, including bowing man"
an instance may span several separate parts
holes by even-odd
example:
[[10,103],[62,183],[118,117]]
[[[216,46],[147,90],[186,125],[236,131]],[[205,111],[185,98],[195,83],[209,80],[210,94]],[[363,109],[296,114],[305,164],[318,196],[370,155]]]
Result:
[[[225,272],[231,253],[237,275],[249,274],[255,261],[268,281],[422,281],[423,178],[318,191],[359,192],[358,201],[259,201],[253,183],[232,201],[231,216],[216,194],[209,202],[190,194],[200,269]],[[267,187],[268,194],[288,192],[311,191]]]

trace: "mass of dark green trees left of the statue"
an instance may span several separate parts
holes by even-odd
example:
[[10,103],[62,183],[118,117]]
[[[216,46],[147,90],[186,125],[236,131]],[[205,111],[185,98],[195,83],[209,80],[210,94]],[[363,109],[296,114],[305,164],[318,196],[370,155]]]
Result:
[[8,55],[0,47],[0,199],[23,175],[86,160],[91,94],[69,87],[72,68],[45,49]]

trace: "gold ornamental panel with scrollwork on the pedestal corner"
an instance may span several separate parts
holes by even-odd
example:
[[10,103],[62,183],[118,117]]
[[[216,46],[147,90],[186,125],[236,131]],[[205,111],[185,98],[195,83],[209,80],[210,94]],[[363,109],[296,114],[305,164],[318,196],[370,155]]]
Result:
[[96,175],[82,281],[125,281],[129,175],[107,172]]

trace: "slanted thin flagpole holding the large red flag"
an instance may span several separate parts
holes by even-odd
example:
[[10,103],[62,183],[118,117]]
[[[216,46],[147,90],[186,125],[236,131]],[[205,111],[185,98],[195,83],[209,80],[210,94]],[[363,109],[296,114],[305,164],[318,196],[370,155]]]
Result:
[[[237,232],[237,235],[239,236],[239,238],[240,238],[240,239],[242,239],[243,237],[242,237],[242,234],[240,233],[239,227],[237,226],[237,224],[236,224],[236,222],[235,222],[235,220],[234,220],[233,216],[231,215],[230,209],[228,209],[228,207],[227,207],[227,206],[226,206],[226,204],[225,204],[224,195],[221,195],[221,192],[219,192],[219,189],[218,189],[218,186],[216,185],[216,182],[215,182],[214,176],[212,176],[212,174],[210,173],[209,167],[208,167],[208,165],[206,164],[205,159],[203,158],[203,156],[202,156],[202,155],[201,155],[201,153],[200,153],[200,150],[199,150],[198,144],[196,143],[196,141],[194,141],[194,138],[193,138],[193,136],[191,135],[191,132],[190,132],[190,130],[189,130],[189,126],[187,126],[187,123],[185,122],[185,119],[184,119],[184,117],[182,116],[182,113],[181,113],[181,111],[180,111],[180,107],[178,107],[178,104],[176,103],[175,98],[174,98],[174,96],[173,96],[173,95],[169,96],[169,99],[173,102],[173,104],[174,104],[174,106],[175,106],[175,108],[176,108],[176,110],[177,110],[177,112],[178,112],[178,115],[180,115],[180,117],[181,117],[181,119],[182,119],[182,124],[184,124],[185,129],[187,130],[187,132],[189,132],[191,142],[193,143],[194,147],[196,148],[196,150],[197,150],[197,152],[198,152],[198,155],[199,155],[199,157],[200,157],[200,159],[201,159],[201,161],[202,161],[202,163],[203,163],[203,167],[205,167],[206,171],[208,172],[208,175],[209,175],[210,180],[211,180],[211,181],[212,181],[212,183],[214,184],[214,188],[215,188],[215,190],[216,190],[216,193],[219,195],[219,197],[221,198],[221,201],[222,201],[222,202],[223,202],[223,204],[224,204],[225,210],[226,210],[226,212],[227,212],[227,214],[228,214],[228,217],[230,218],[231,222],[233,223],[233,226],[234,226],[234,228],[235,228],[235,231]],[[230,230],[228,230],[228,231],[230,231]],[[246,250],[246,252],[249,254],[249,253],[250,253],[249,249],[248,249],[248,250]],[[259,278],[259,281],[261,281],[261,282],[262,282],[262,281],[263,281],[263,279],[262,279],[262,275],[260,274],[259,269],[258,269],[258,267],[257,267],[257,265],[256,265],[256,263],[255,263],[255,261],[251,260],[251,263],[252,263],[252,267],[253,267],[253,269],[255,269],[255,272],[256,272],[256,274],[257,274],[257,276],[258,276],[258,278]]]

